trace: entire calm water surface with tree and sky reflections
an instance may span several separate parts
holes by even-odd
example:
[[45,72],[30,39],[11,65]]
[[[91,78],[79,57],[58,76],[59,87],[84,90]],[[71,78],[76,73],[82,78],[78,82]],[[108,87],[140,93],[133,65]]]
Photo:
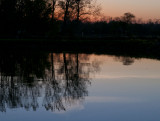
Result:
[[160,120],[160,61],[95,54],[1,54],[0,121],[53,120]]

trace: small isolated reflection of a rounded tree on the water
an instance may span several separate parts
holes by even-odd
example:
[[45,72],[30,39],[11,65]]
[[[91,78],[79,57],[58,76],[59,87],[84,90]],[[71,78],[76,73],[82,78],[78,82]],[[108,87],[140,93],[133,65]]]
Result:
[[115,57],[116,61],[120,61],[123,63],[123,65],[132,65],[134,63],[134,58],[131,57]]

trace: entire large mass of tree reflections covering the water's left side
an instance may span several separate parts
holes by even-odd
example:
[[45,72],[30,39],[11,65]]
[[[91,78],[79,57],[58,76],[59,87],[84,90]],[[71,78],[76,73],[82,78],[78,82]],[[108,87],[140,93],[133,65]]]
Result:
[[[39,107],[43,97],[46,110],[66,110],[66,105],[88,95],[90,73],[96,62],[85,54],[23,53],[0,55],[0,111]],[[98,65],[98,63],[97,63]],[[44,92],[45,90],[45,92]]]

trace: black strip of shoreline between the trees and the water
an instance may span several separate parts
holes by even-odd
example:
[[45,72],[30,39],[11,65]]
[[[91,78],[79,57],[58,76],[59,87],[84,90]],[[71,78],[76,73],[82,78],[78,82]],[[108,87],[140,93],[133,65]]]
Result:
[[160,59],[160,40],[49,40],[0,39],[0,50],[16,52],[71,52],[111,54]]

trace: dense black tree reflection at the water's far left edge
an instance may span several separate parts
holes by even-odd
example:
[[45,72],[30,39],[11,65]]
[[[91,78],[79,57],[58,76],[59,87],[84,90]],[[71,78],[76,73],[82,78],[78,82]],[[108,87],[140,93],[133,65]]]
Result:
[[36,110],[40,86],[35,79],[45,77],[49,68],[44,53],[0,54],[0,110],[24,107]]

